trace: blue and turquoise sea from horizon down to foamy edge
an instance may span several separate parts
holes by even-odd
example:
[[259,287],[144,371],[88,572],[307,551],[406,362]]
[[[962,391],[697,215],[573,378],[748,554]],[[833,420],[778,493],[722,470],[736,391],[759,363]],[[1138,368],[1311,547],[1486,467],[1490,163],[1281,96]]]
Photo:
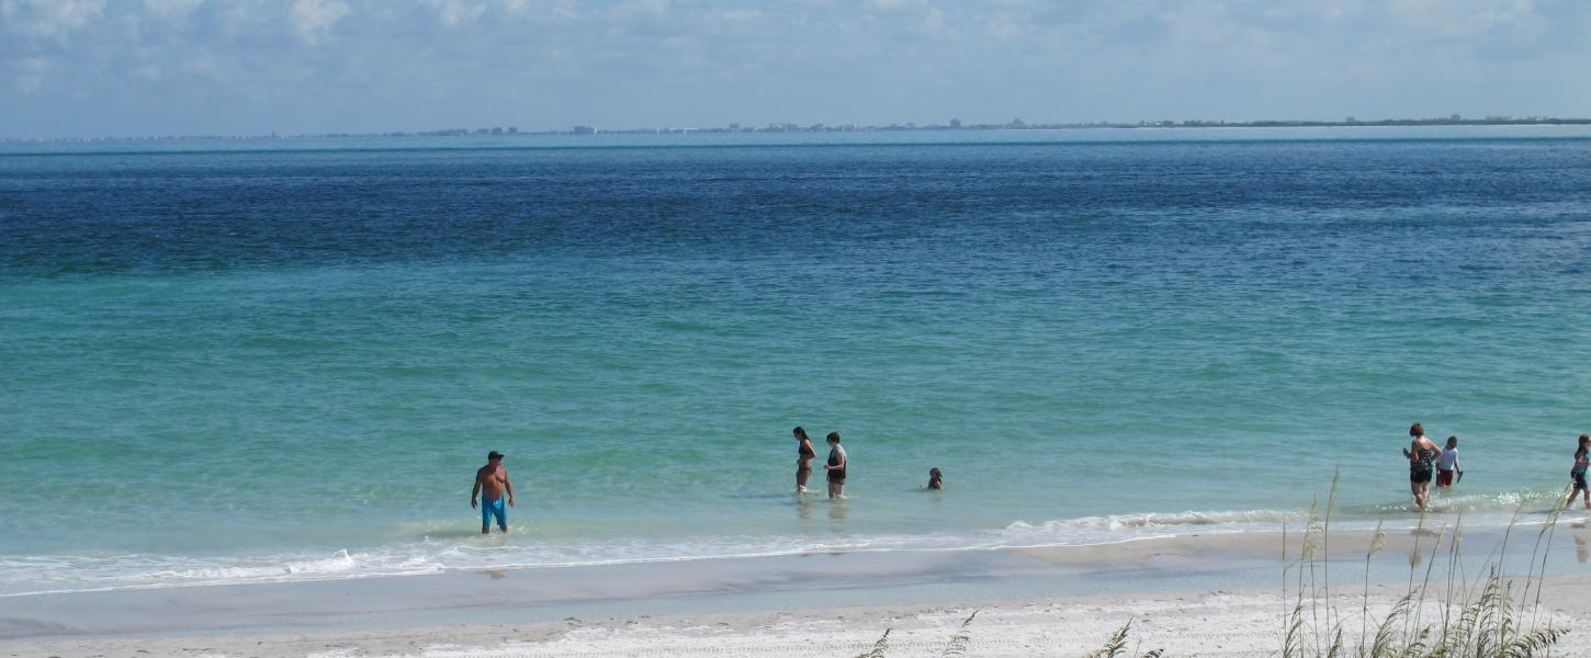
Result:
[[1413,523],[1413,421],[1505,523],[1591,431],[1591,130],[671,137],[0,145],[0,594]]

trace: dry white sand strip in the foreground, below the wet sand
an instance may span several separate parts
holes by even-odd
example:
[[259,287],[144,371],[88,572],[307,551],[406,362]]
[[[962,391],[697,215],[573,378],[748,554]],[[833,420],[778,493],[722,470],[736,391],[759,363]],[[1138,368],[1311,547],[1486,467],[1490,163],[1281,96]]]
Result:
[[[1586,582],[1578,582],[1585,586]],[[1384,613],[1389,598],[1373,601]],[[1344,598],[1343,609],[1360,601]],[[1007,601],[978,606],[967,625],[969,656],[1076,656],[1098,648],[1133,620],[1130,648],[1177,656],[1276,655],[1282,634],[1278,594],[1090,598],[1082,602]],[[888,656],[939,656],[972,607],[842,609],[718,613],[636,620],[568,620],[385,631],[91,637],[6,644],[6,656],[837,656],[867,648],[888,628]],[[1435,606],[1427,613],[1440,615]],[[1585,628],[1588,615],[1551,617]],[[1375,633],[1371,628],[1370,633]],[[1357,634],[1357,626],[1351,631]],[[1357,637],[1357,636],[1356,636]],[[1556,655],[1591,655],[1591,633],[1570,634]]]

